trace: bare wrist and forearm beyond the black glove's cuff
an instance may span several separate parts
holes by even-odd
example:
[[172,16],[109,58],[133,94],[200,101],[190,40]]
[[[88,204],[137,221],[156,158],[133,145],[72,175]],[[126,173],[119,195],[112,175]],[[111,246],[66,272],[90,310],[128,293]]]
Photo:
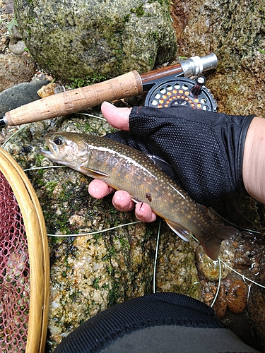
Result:
[[255,117],[249,125],[243,157],[243,181],[252,197],[265,204],[265,119]]

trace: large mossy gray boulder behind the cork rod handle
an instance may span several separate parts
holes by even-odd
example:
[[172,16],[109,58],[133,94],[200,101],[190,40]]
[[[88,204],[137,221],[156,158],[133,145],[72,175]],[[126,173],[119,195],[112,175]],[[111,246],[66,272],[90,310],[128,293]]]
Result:
[[150,71],[176,54],[167,1],[16,1],[33,58],[57,78]]

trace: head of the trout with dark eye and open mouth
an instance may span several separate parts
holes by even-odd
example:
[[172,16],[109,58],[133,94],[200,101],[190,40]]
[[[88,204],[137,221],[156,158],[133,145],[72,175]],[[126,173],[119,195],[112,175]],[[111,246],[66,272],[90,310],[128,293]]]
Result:
[[49,150],[40,149],[40,153],[54,162],[73,169],[86,162],[89,157],[88,145],[76,133],[47,133],[45,142]]

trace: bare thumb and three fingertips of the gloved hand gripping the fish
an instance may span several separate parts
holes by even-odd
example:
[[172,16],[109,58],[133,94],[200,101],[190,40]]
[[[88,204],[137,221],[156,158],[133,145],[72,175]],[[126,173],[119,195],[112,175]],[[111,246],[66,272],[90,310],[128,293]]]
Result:
[[[129,131],[129,108],[117,108],[114,105],[104,102],[101,106],[102,114],[105,116],[110,125],[123,131]],[[104,181],[94,179],[91,181],[88,192],[94,198],[104,198],[114,192],[112,187],[108,186]],[[156,219],[155,213],[151,210],[148,203],[134,203],[131,196],[126,191],[116,191],[112,198],[112,204],[119,211],[129,212],[135,207],[135,215],[141,222],[153,222]]]

